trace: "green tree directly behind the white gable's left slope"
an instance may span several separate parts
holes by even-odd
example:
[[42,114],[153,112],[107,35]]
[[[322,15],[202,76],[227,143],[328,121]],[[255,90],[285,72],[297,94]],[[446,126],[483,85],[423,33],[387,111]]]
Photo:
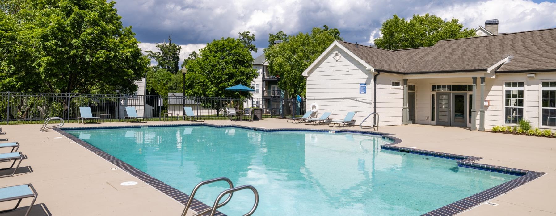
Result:
[[[275,38],[284,36],[283,32],[279,32]],[[269,72],[280,77],[280,89],[289,93],[291,97],[295,97],[296,94],[305,97],[306,81],[302,76],[303,71],[336,40],[344,40],[340,37],[338,29],[315,27],[311,33],[300,32],[295,36],[287,36],[284,42],[266,48],[265,57],[269,61]]]

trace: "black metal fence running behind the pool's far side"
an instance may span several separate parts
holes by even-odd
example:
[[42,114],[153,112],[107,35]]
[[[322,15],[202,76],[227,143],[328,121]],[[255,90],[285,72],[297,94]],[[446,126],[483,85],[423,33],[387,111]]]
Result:
[[137,96],[126,94],[63,94],[0,92],[0,123],[41,123],[49,117],[76,120],[79,107],[91,107],[93,116],[123,120],[125,107],[135,107],[138,115],[151,119],[183,115],[183,104],[207,119],[226,119],[225,108],[259,108],[263,118],[305,114],[305,99],[214,98],[182,96]]

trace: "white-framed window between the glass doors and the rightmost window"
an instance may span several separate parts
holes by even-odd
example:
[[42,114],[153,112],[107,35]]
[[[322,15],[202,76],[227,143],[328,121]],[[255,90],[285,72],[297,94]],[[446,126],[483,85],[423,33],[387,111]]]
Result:
[[504,122],[516,124],[523,119],[523,82],[505,83]]

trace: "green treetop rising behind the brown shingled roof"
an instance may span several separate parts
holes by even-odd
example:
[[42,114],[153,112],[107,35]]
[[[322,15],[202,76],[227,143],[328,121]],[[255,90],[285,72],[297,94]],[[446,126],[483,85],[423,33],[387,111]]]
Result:
[[394,14],[393,18],[384,21],[380,31],[382,37],[375,39],[375,45],[383,49],[430,47],[441,40],[475,36],[473,29],[463,28],[456,18],[443,21],[428,13],[424,16],[414,14],[409,21]]

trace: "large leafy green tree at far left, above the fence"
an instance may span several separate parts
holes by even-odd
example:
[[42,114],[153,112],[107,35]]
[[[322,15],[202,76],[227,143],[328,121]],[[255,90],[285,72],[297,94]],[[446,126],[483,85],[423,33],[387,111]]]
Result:
[[0,91],[131,93],[149,60],[115,2],[0,2]]

